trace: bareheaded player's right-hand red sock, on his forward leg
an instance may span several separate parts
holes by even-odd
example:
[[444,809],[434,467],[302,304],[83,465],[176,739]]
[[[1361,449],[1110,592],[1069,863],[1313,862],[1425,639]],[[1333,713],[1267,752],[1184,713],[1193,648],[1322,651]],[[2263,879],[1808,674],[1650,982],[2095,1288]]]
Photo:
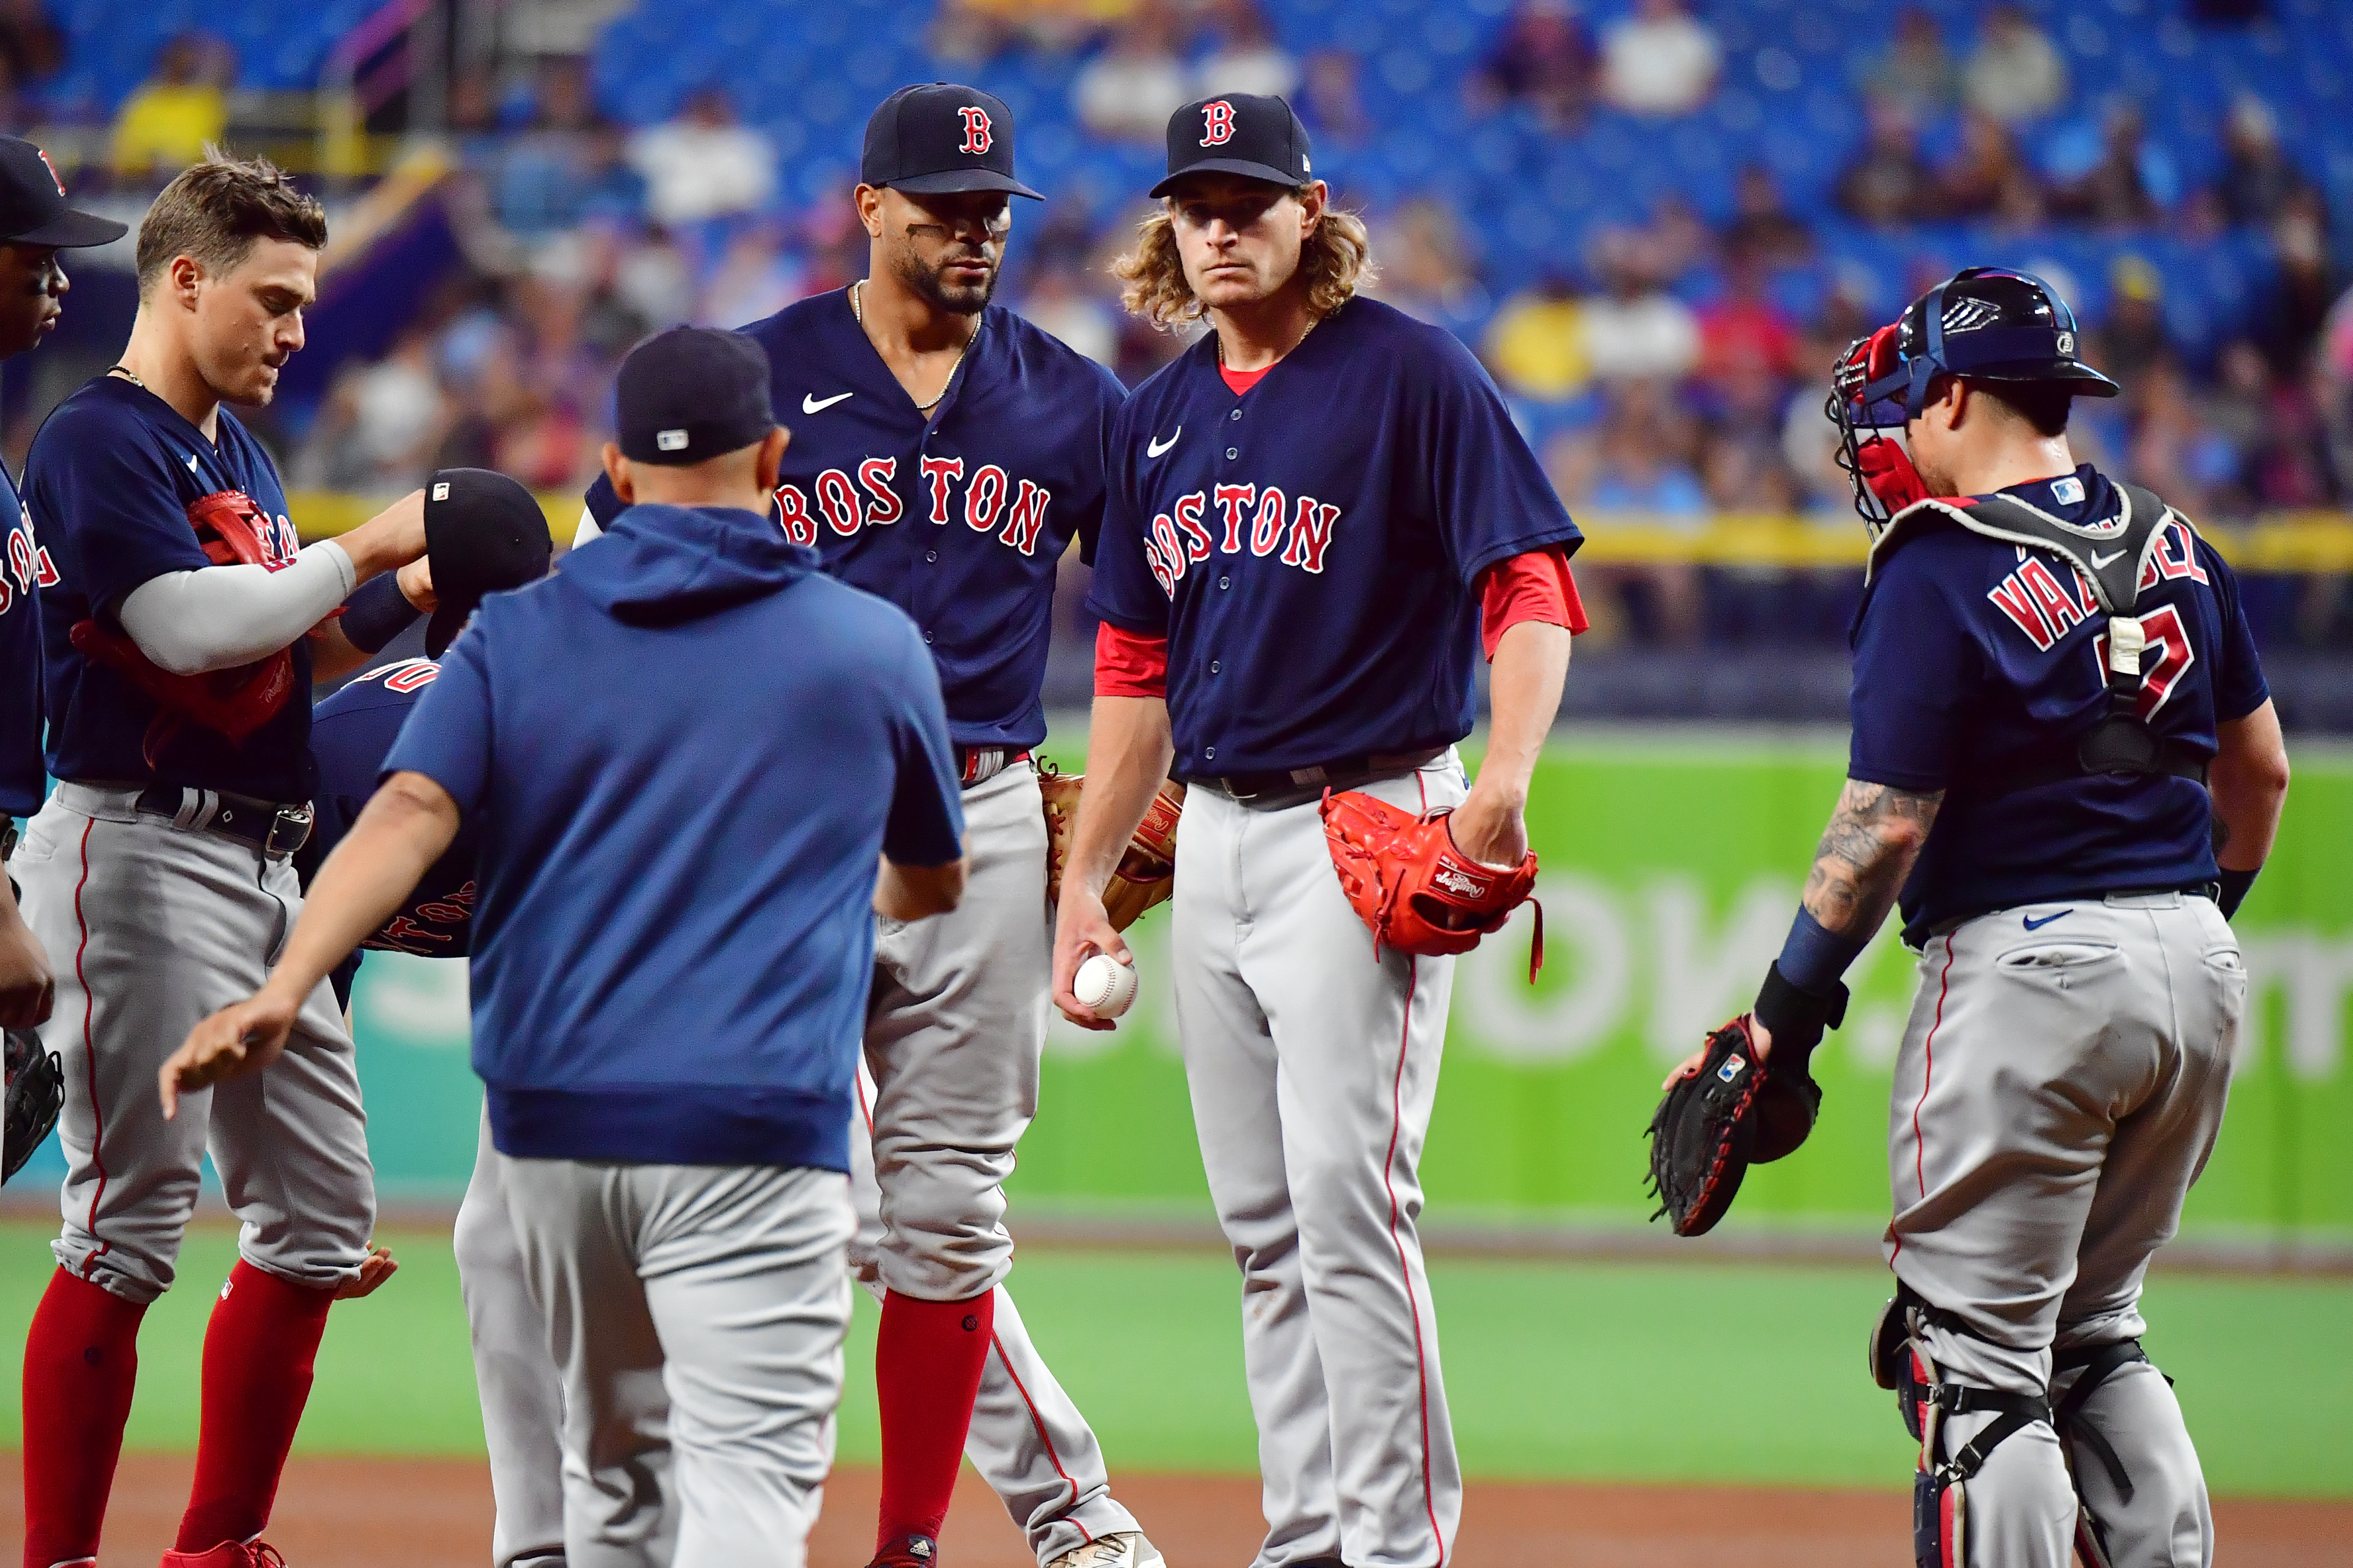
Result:
[[205,1413],[179,1552],[252,1540],[271,1521],[334,1291],[238,1260],[205,1328]]

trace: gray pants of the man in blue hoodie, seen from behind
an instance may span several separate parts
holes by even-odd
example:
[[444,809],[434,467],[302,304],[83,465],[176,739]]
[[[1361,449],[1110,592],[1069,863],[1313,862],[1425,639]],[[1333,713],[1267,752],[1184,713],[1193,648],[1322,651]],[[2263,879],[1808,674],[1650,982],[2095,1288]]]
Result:
[[833,1469],[849,1182],[499,1157],[562,1378],[572,1568],[802,1568]]

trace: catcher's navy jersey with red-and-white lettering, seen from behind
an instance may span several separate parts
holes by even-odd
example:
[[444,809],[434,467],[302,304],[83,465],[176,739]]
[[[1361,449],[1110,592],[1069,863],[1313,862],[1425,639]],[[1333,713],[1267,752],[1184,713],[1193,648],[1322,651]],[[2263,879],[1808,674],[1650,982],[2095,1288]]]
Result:
[[[2005,494],[2068,522],[2113,517],[2092,465]],[[2217,724],[2271,696],[2238,578],[2212,545],[2167,522],[2134,614],[2148,632],[2141,717],[2212,757]],[[2108,710],[2106,616],[2057,552],[1958,522],[1901,543],[1854,623],[1854,743],[1847,773],[1899,790],[1948,790],[1904,884],[1913,945],[1946,922],[2026,903],[2184,889],[2217,877],[2205,788],[2172,776],[2080,776],[2007,795],[1988,785],[2073,748]]]

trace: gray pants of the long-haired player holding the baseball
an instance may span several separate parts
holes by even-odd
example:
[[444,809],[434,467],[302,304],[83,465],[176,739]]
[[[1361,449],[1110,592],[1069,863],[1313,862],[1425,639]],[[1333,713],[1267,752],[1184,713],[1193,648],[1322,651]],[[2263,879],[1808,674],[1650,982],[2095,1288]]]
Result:
[[[1428,811],[1468,785],[1447,752],[1365,792]],[[1313,799],[1264,811],[1198,788],[1176,835],[1172,964],[1193,1126],[1242,1269],[1259,1568],[1435,1568],[1461,1467],[1417,1166],[1454,959],[1374,957]]]

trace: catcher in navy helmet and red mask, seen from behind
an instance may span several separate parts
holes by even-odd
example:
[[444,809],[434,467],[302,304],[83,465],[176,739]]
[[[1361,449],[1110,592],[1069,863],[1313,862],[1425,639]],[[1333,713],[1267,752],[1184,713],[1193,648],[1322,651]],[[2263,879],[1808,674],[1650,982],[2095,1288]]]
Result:
[[1901,907],[1922,983],[1873,1371],[1922,1441],[1939,1568],[2214,1561],[2139,1298],[2221,1128],[2247,1001],[2226,917],[2287,752],[2231,569],[2075,463],[2071,400],[2118,390],[2078,341],[2049,284],[1967,268],[1840,362],[1873,534],[1847,785],[1753,1018],[1671,1079],[1746,1086],[1777,1107],[1758,1157],[1795,1147],[1840,973]]

